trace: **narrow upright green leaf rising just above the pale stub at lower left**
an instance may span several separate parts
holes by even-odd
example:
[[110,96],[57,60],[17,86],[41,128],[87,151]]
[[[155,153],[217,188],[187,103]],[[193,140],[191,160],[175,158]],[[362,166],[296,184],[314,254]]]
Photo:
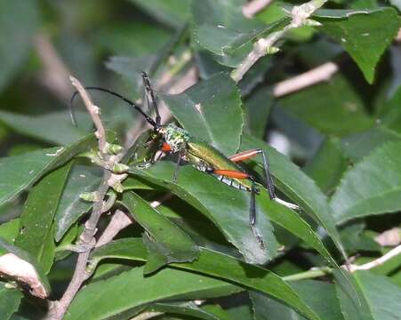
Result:
[[53,219],[68,178],[71,163],[48,173],[29,192],[20,216],[20,235],[15,245],[29,252],[47,274],[54,260]]

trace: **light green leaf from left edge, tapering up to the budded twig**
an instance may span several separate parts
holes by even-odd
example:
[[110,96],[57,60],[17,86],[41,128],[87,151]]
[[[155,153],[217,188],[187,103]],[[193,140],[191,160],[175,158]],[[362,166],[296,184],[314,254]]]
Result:
[[[108,135],[113,140],[112,134]],[[113,139],[111,139],[113,137]],[[0,158],[0,205],[11,201],[32,186],[46,172],[52,171],[71,157],[95,148],[97,140],[90,134],[68,147],[47,148],[21,156]]]

